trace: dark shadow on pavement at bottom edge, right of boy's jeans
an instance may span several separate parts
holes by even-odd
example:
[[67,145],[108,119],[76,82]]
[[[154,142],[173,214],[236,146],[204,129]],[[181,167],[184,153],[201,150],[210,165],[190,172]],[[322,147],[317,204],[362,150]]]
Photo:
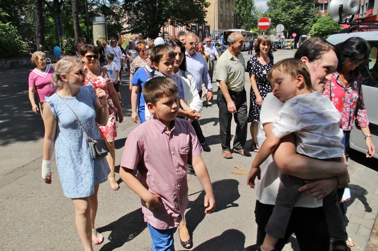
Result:
[[236,229],[228,229],[193,250],[243,250],[244,242],[245,235],[242,232]]

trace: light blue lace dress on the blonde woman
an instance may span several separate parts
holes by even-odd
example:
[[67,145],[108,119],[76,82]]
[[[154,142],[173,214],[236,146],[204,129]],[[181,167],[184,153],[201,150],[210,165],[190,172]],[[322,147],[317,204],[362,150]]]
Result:
[[[83,128],[57,94],[59,91],[46,98],[46,102],[57,120],[55,156],[63,193],[69,198],[88,197],[94,193],[94,185],[107,180],[109,165],[106,158],[92,159]],[[89,136],[99,138],[93,88],[81,87],[77,96],[62,98],[78,115]]]

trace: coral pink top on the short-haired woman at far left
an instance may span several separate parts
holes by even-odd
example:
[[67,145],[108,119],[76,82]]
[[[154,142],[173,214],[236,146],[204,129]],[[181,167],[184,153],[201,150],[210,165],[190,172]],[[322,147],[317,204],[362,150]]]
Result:
[[44,102],[45,97],[50,97],[55,93],[51,88],[52,73],[55,72],[54,67],[47,65],[44,72],[34,69],[29,74],[29,87],[34,87],[37,91],[39,102]]

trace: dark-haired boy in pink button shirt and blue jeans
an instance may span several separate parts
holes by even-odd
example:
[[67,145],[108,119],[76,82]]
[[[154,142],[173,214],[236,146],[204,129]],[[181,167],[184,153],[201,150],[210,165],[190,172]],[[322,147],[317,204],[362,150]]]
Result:
[[[153,117],[129,134],[119,170],[124,183],[141,197],[153,250],[174,250],[173,233],[188,204],[188,160],[206,192],[205,213],[215,209],[202,146],[190,122],[176,118],[177,92],[177,85],[168,77],[154,77],[145,83],[144,98]],[[134,170],[138,170],[137,177]]]

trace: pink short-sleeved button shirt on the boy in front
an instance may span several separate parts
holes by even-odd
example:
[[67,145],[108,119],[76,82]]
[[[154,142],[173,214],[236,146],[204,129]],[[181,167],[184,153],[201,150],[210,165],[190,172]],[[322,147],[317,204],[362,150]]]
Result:
[[186,163],[203,151],[193,126],[175,119],[170,135],[155,117],[135,128],[123,148],[121,166],[138,170],[139,181],[152,194],[160,195],[162,206],[153,210],[142,200],[144,220],[157,228],[177,227],[188,204]]

